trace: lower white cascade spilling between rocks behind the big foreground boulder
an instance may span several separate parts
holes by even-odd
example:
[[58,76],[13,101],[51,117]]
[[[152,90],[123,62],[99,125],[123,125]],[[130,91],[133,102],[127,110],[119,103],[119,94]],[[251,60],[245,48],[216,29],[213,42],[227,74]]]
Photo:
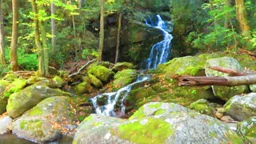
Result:
[[[136,82],[131,83],[127,86],[124,86],[116,92],[98,94],[94,98],[91,98],[91,102],[94,105],[96,114],[102,114],[102,115],[112,116],[112,117],[124,115],[126,112],[126,106],[124,105],[124,101],[128,96],[132,86],[134,86],[137,83],[144,82],[149,78],[150,78],[149,76],[138,77]],[[98,101],[101,98],[107,99],[107,103],[105,105],[99,106]],[[118,102],[121,103],[120,108],[119,110],[115,110],[116,109],[115,106],[117,105]],[[118,114],[116,112],[118,112]]]

